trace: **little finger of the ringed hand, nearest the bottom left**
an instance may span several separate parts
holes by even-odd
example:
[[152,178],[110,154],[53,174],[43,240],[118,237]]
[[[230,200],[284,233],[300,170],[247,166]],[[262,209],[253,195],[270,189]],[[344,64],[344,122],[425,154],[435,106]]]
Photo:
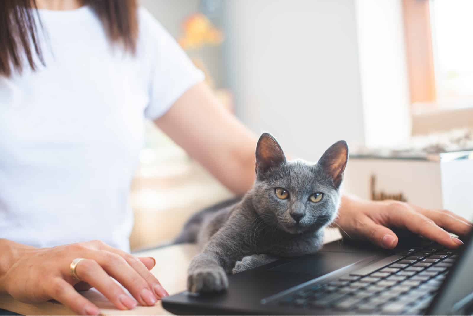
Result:
[[79,315],[99,315],[100,310],[87,298],[80,295],[68,282],[61,278],[53,279],[48,294]]

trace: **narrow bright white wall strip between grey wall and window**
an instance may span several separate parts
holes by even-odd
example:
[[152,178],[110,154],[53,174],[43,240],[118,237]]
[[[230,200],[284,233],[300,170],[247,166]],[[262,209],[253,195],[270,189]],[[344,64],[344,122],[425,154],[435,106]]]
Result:
[[410,96],[400,0],[356,0],[367,146],[411,136]]

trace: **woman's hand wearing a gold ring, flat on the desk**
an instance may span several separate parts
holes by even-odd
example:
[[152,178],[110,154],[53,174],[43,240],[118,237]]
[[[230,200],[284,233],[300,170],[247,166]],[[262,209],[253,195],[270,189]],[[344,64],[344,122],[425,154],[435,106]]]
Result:
[[[137,301],[151,306],[168,295],[149,272],[156,263],[153,258],[138,258],[101,241],[53,248],[25,246],[13,252],[14,262],[0,275],[0,292],[8,292],[22,302],[55,299],[80,315],[98,315],[98,307],[77,290],[94,287],[120,309],[131,309]],[[80,281],[70,274],[70,263],[76,258],[85,258],[76,267]]]

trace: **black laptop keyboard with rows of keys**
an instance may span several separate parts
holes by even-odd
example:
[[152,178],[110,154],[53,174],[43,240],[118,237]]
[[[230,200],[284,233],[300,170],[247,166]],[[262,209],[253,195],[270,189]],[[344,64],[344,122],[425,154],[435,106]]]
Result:
[[455,258],[455,250],[435,243],[412,247],[337,280],[291,292],[278,303],[354,314],[422,314]]

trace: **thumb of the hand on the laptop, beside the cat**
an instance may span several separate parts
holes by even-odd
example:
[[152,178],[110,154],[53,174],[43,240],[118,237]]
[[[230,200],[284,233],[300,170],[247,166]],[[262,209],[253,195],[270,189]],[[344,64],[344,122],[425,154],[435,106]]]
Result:
[[391,229],[375,223],[369,217],[357,219],[357,221],[358,234],[368,238],[375,245],[386,249],[397,246],[398,238]]

